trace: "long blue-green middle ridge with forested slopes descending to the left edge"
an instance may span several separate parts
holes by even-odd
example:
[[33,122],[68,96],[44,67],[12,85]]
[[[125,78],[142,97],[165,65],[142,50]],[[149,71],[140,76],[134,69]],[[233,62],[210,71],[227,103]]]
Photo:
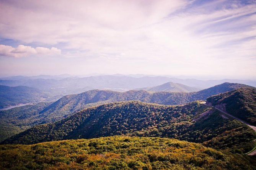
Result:
[[[223,83],[205,90],[184,92],[148,92],[130,90],[126,92],[110,90],[90,90],[84,93],[67,95],[54,103],[39,103],[22,106],[7,111],[0,111],[0,139],[5,139],[17,132],[42,123],[55,122],[75,114],[82,109],[116,101],[137,100],[157,104],[186,104],[196,100],[206,100],[209,96],[226,91],[248,87],[237,83]],[[11,115],[11,116],[10,116]],[[11,131],[6,132],[7,127]]]

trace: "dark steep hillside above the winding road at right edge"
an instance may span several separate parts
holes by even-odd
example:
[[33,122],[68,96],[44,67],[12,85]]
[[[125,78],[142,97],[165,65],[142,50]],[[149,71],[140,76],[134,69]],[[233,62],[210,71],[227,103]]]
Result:
[[243,87],[211,96],[207,103],[256,125],[256,88]]

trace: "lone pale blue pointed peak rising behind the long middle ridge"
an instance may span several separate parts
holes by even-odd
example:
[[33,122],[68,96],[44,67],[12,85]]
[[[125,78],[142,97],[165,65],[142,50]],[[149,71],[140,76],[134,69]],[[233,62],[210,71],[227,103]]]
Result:
[[194,92],[201,90],[200,88],[189,87],[180,83],[168,82],[162,85],[154,87],[144,87],[134,90],[146,90],[146,91],[171,91],[171,92]]

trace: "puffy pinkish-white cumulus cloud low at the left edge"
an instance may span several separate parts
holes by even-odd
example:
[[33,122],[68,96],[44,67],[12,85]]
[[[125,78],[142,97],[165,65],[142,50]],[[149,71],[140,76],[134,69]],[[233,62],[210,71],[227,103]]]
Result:
[[0,56],[7,57],[24,57],[30,55],[60,55],[61,50],[55,47],[51,49],[45,47],[30,47],[25,45],[18,45],[17,48],[13,48],[8,45],[0,45]]

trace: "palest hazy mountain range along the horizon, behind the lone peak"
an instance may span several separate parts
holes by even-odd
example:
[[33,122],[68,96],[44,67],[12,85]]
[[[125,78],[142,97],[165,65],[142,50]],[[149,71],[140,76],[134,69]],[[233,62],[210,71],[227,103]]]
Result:
[[[158,86],[167,82],[181,83],[190,87],[196,88],[209,88],[214,85],[218,85],[224,82],[242,83],[256,87],[255,80],[197,80],[197,79],[177,79],[171,77],[161,76],[145,76],[145,77],[129,77],[122,75],[101,75],[91,77],[56,77],[56,76],[35,76],[24,78],[3,78],[0,80],[0,85],[6,86],[28,86],[41,90],[55,89],[62,91],[76,90],[84,87],[92,87],[93,89],[115,88],[120,91],[126,91],[127,89],[144,88]],[[122,90],[123,89],[123,90]]]

